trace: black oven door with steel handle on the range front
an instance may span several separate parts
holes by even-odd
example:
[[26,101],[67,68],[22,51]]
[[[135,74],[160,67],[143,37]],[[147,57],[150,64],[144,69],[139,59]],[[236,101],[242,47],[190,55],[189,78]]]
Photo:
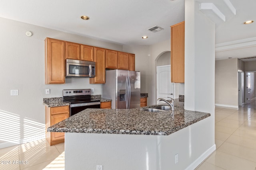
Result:
[[71,104],[70,105],[70,116],[75,115],[76,113],[83,111],[84,109],[88,109],[88,108],[100,108],[100,102]]

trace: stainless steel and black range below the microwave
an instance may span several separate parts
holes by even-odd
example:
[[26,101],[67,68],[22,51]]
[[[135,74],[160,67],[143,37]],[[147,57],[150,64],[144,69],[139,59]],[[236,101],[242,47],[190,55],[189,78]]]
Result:
[[87,108],[100,108],[100,100],[91,99],[91,89],[63,90],[63,101],[70,103],[70,116]]

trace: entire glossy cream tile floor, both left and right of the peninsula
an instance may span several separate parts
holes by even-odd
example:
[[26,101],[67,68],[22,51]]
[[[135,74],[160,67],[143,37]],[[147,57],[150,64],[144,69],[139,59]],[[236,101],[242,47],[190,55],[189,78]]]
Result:
[[[256,102],[238,110],[215,109],[216,150],[196,170],[256,170]],[[45,140],[0,149],[0,170],[64,170],[64,143]],[[24,164],[13,164],[13,161]],[[26,164],[25,161],[28,161]]]

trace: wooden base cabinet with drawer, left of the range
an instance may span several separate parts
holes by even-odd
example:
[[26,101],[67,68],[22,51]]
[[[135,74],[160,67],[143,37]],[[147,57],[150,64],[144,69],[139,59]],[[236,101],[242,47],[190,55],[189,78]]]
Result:
[[64,132],[47,132],[47,128],[69,117],[69,106],[45,106],[46,140],[51,145],[64,142]]

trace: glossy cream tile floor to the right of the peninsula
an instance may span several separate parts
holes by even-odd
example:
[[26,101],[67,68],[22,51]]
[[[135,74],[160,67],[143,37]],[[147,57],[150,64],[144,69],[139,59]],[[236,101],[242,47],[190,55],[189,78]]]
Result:
[[216,150],[196,170],[256,169],[256,102],[215,108]]

